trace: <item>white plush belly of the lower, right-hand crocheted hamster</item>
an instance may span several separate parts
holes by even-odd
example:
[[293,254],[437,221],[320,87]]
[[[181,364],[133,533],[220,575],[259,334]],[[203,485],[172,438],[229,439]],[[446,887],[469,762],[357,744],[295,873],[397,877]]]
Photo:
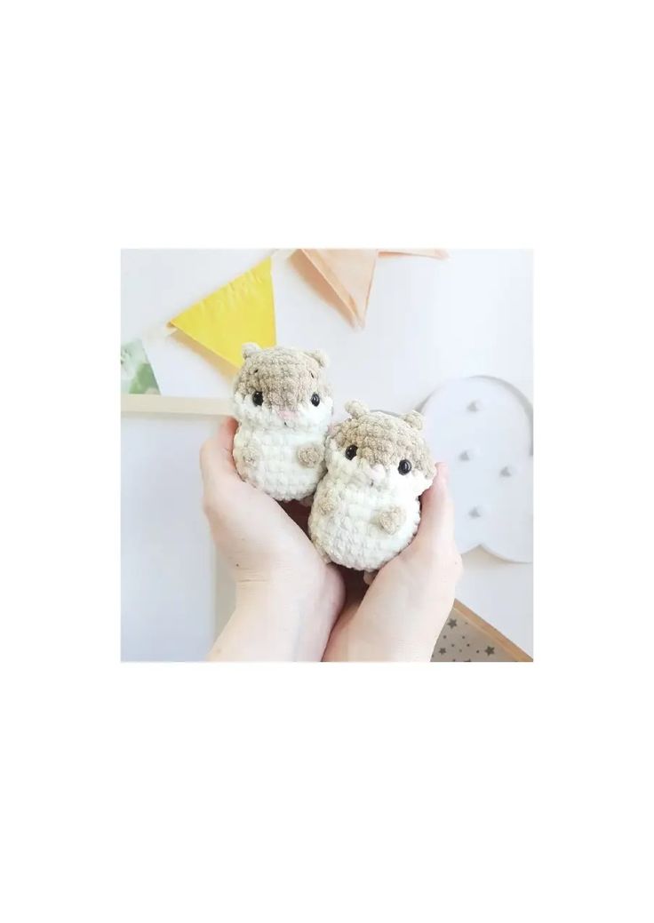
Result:
[[[336,501],[336,509],[323,513],[321,495],[328,490]],[[403,509],[406,518],[397,532],[389,535],[379,524],[379,516],[394,506]],[[316,491],[309,533],[314,545],[336,564],[355,570],[378,570],[406,548],[416,534],[419,521],[417,499],[398,499],[374,489],[359,490],[333,480],[328,474]]]

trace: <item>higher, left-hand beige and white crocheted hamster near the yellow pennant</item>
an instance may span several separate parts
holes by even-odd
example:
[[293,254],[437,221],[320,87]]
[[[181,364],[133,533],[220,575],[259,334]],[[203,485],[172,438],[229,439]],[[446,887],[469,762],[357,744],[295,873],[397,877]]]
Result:
[[327,356],[246,343],[243,358],[234,388],[236,471],[276,500],[309,497],[325,471],[332,420]]

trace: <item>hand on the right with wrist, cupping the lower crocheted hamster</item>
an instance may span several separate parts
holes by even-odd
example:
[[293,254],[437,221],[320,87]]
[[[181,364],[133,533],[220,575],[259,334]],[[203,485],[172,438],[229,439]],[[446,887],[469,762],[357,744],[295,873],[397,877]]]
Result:
[[416,537],[379,571],[367,593],[351,572],[348,601],[323,660],[430,660],[463,573],[447,480],[447,466],[437,465],[421,498]]

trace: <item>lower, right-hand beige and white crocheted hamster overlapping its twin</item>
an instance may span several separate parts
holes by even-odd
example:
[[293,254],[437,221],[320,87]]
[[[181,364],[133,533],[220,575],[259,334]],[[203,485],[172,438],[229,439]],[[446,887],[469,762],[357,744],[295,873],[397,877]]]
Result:
[[375,571],[406,548],[418,529],[418,497],[436,473],[422,437],[422,415],[404,417],[345,404],[350,419],[327,440],[309,534],[323,557]]

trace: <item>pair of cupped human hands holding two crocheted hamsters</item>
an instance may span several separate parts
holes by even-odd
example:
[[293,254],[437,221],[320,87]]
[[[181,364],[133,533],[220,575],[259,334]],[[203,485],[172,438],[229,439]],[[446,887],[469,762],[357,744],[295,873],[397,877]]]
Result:
[[235,433],[225,419],[200,452],[204,511],[236,583],[210,660],[429,661],[463,572],[446,466],[422,495],[416,537],[368,588],[357,571],[321,559],[306,507],[240,479]]

